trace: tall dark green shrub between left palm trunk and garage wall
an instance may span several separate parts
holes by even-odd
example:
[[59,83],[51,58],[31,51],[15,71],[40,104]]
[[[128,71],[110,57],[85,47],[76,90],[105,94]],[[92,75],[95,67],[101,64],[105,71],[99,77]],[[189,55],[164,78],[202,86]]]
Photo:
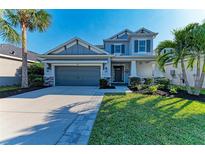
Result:
[[32,63],[28,67],[29,86],[40,87],[43,86],[44,68],[42,63]]

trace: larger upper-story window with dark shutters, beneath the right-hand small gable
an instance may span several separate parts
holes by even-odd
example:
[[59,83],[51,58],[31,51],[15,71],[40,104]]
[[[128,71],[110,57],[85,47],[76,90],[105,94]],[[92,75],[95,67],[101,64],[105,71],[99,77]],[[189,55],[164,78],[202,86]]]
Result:
[[151,41],[150,40],[135,40],[134,52],[150,52]]

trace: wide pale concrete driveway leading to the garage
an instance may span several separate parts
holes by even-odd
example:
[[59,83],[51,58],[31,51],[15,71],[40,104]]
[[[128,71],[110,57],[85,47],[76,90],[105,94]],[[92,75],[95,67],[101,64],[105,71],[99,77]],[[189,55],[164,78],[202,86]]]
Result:
[[0,99],[0,144],[86,144],[98,87],[51,87]]

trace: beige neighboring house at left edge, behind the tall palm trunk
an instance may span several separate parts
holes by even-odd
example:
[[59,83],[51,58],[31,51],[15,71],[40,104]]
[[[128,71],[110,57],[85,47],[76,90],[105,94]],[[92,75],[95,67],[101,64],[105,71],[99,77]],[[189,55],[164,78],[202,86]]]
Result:
[[[37,61],[34,52],[28,52],[28,63]],[[0,86],[21,83],[22,51],[10,44],[0,44]]]

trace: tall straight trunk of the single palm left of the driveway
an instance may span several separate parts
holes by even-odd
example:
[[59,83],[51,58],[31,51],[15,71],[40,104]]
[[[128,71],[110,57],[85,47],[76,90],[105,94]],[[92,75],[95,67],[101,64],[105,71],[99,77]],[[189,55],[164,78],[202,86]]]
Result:
[[28,88],[28,66],[27,66],[27,44],[26,44],[26,26],[22,24],[22,88]]

